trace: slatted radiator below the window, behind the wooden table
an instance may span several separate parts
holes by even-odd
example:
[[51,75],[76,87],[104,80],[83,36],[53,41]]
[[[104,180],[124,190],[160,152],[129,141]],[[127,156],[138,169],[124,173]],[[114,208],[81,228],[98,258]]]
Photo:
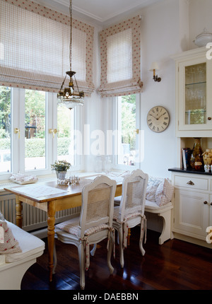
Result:
[[[6,192],[2,192],[2,194],[0,194],[0,211],[7,221],[16,224],[16,199],[13,194],[6,194]],[[55,223],[66,221],[69,218],[78,216],[80,211],[81,207],[57,211],[55,215]],[[25,231],[47,228],[47,212],[23,203],[22,228]]]

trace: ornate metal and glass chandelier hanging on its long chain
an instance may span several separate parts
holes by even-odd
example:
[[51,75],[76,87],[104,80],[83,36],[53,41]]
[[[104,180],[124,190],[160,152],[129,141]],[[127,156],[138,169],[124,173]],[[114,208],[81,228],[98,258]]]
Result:
[[[69,12],[70,12],[70,49],[69,49],[69,62],[70,62],[70,71],[66,71],[66,76],[64,78],[63,83],[61,84],[61,88],[59,90],[59,93],[57,94],[58,103],[64,104],[70,109],[74,107],[75,105],[83,105],[84,104],[84,92],[79,91],[78,85],[76,82],[75,74],[76,72],[71,71],[71,52],[72,52],[72,0],[70,0],[69,5]],[[66,81],[67,75],[70,77],[69,80],[69,87],[64,88],[64,82]],[[76,82],[77,92],[74,91],[73,88],[73,77]]]

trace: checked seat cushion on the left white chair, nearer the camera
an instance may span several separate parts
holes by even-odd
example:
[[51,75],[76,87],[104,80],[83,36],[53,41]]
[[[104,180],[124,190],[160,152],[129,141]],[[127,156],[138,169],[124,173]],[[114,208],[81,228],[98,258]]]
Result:
[[[71,218],[68,221],[64,221],[62,223],[59,223],[55,226],[56,228],[59,228],[61,230],[64,230],[68,233],[71,233],[72,235],[76,235],[78,238],[81,237],[81,228],[79,226],[79,217],[76,218]],[[93,233],[96,233],[100,230],[104,230],[104,229],[108,229],[109,226],[107,226],[106,224],[101,224],[99,226],[93,226],[91,228],[88,228],[85,231],[85,235],[91,235]]]

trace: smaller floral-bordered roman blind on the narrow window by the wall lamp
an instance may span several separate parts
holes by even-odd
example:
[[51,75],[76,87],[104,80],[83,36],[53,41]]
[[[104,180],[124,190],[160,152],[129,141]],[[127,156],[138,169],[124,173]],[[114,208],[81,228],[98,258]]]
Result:
[[113,97],[140,93],[141,39],[140,16],[100,32],[100,95]]

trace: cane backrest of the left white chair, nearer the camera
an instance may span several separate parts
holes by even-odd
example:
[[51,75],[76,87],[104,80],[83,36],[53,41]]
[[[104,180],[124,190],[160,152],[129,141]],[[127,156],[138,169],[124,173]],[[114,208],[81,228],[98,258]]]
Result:
[[79,226],[81,235],[91,227],[107,224],[112,227],[114,194],[117,182],[105,175],[96,177],[83,187],[82,206]]

